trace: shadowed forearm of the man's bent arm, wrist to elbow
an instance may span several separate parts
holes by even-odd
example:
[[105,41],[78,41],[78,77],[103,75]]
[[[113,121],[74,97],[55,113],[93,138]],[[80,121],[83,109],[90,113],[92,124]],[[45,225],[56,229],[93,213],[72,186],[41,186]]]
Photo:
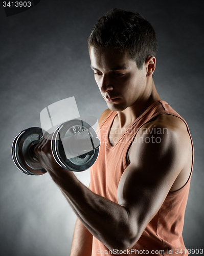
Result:
[[[129,220],[125,207],[96,195],[67,170],[51,173],[67,201],[84,226],[109,249],[124,248],[129,237]],[[126,247],[127,248],[127,247]]]

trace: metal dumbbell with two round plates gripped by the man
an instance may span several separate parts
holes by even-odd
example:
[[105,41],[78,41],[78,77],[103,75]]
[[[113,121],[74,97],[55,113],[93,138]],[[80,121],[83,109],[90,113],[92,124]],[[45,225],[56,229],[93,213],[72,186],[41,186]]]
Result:
[[[40,127],[31,127],[15,137],[11,155],[21,172],[28,175],[47,173],[40,165],[34,148],[48,134]],[[51,139],[51,150],[55,161],[61,167],[75,172],[86,170],[95,163],[99,146],[100,140],[93,127],[79,119],[60,124]]]

